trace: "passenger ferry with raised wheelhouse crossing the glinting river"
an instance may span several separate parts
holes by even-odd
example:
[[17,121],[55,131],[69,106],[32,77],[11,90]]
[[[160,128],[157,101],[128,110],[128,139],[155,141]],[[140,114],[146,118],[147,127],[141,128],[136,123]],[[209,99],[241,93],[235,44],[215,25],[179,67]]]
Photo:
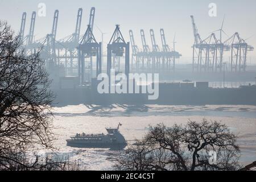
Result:
[[67,146],[83,148],[118,148],[122,149],[127,146],[127,142],[117,128],[106,128],[108,134],[76,134],[67,139]]

